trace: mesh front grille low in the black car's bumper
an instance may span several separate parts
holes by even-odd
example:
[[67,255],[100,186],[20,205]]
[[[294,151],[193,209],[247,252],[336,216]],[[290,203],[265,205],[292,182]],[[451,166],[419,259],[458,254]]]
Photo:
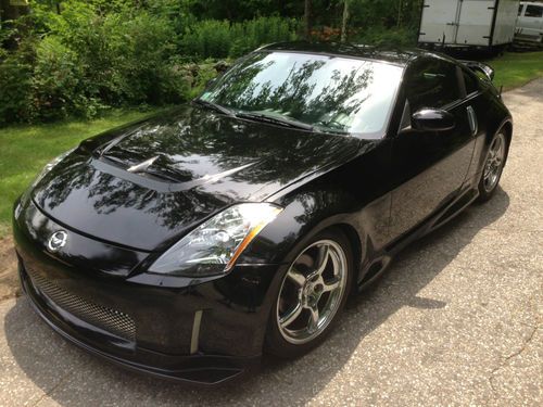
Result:
[[34,285],[62,309],[114,335],[131,342],[136,341],[136,323],[128,315],[93,304],[68,293],[37,272],[28,269],[26,271],[30,276]]

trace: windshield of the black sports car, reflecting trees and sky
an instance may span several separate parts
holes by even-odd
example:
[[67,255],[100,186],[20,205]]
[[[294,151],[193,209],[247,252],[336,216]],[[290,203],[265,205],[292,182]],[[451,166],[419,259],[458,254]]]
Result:
[[235,113],[369,136],[384,129],[402,72],[402,67],[375,61],[256,52],[200,99]]

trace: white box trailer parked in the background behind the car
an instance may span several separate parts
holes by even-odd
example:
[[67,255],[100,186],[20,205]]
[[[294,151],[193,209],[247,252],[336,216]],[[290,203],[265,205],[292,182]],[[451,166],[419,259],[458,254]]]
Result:
[[425,0],[419,47],[500,50],[513,42],[519,0]]

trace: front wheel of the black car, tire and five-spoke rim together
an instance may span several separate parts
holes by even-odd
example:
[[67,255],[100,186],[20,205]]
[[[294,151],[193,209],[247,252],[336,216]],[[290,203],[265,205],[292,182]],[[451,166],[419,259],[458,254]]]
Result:
[[353,269],[351,245],[339,230],[325,231],[307,243],[282,278],[265,351],[294,358],[319,345],[345,306]]

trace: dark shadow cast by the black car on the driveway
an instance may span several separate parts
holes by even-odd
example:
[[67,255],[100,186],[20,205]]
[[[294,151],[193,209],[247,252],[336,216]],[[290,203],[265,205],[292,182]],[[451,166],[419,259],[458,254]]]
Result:
[[64,406],[180,402],[303,404],[332,381],[353,352],[364,346],[364,339],[399,309],[445,307],[444,302],[418,293],[508,206],[509,198],[500,189],[490,203],[469,207],[449,225],[411,245],[375,287],[351,301],[334,333],[323,346],[294,361],[267,357],[260,372],[225,387],[187,389],[102,363],[54,334],[34,315],[24,297],[17,300],[5,318],[8,344],[24,373]]

